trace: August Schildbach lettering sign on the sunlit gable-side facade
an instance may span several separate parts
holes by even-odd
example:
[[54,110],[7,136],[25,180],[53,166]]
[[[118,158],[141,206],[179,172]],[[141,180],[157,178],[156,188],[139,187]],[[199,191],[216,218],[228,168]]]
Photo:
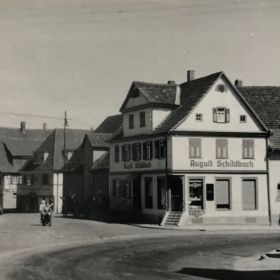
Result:
[[205,168],[205,167],[216,167],[216,168],[228,168],[228,167],[237,167],[237,168],[254,168],[254,162],[241,161],[241,160],[228,160],[228,159],[219,159],[219,160],[190,160],[190,167],[195,168]]

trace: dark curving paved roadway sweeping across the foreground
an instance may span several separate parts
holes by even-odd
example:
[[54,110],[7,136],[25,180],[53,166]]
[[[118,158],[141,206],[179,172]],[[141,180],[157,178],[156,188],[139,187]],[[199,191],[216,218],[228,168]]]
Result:
[[242,259],[262,264],[256,255],[278,243],[276,235],[203,234],[114,241],[35,254],[7,279],[280,279],[280,259],[279,270],[236,270]]

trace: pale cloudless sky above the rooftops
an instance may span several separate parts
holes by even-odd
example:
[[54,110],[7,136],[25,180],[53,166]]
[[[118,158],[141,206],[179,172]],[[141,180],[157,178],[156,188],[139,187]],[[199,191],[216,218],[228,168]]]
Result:
[[280,86],[278,0],[0,0],[0,126],[96,128],[132,81]]

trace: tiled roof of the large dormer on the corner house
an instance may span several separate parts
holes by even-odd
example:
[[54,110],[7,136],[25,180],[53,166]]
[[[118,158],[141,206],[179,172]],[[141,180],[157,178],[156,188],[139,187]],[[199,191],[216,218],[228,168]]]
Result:
[[128,91],[128,94],[120,108],[120,112],[123,112],[125,106],[135,93],[142,94],[148,103],[153,105],[158,105],[159,107],[163,105],[175,106],[176,99],[176,88],[175,83],[171,84],[156,84],[134,81]]

